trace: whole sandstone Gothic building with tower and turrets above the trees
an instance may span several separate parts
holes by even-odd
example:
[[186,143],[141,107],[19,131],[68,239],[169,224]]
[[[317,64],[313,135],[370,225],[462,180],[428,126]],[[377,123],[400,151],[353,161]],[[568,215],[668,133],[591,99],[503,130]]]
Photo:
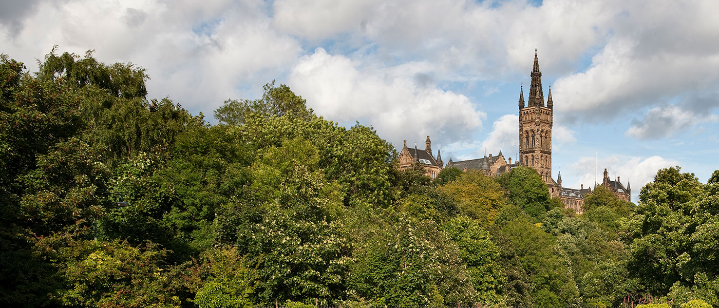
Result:
[[[551,88],[547,91],[546,103],[544,101],[544,90],[541,85],[541,70],[539,70],[539,60],[536,50],[534,50],[534,65],[530,73],[531,83],[529,84],[529,93],[527,101],[524,101],[524,89],[519,89],[519,157],[518,161],[512,162],[511,157],[505,159],[502,151],[498,155],[492,154],[480,159],[470,159],[459,162],[453,162],[449,159],[446,167],[455,167],[466,171],[467,169],[477,169],[489,176],[498,176],[503,172],[508,172],[513,167],[526,166],[535,169],[539,176],[544,180],[551,197],[558,197],[564,202],[567,208],[571,208],[577,213],[582,213],[582,205],[585,197],[592,193],[592,188],[584,188],[580,185],[579,189],[562,187],[562,174],[557,173],[557,180],[551,177],[551,128],[554,121],[554,101],[551,98]],[[426,170],[425,174],[434,178],[441,171],[442,162],[431,152],[429,136],[426,140],[426,149],[418,150],[415,145],[414,149],[407,147],[405,140],[404,147],[400,152],[400,169],[411,166],[413,163],[419,163]],[[619,181],[619,177],[615,180],[609,178],[607,169],[604,169],[604,178],[601,184],[607,188],[620,200],[631,201],[631,188],[627,182],[626,187]]]

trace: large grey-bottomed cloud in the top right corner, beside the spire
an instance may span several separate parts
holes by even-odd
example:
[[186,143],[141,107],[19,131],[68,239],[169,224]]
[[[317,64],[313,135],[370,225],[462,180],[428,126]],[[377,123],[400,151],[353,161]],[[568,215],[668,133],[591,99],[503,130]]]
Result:
[[[661,2],[661,1],[660,1]],[[638,2],[617,6],[608,42],[581,73],[554,83],[559,111],[569,119],[604,121],[656,106],[719,83],[719,20],[716,1]],[[620,14],[619,14],[620,13]],[[667,108],[659,108],[659,111]]]

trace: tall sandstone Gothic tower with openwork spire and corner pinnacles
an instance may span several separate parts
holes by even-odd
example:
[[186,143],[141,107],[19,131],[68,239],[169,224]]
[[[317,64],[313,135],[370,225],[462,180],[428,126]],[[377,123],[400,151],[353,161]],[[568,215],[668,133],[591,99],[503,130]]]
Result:
[[[534,50],[534,67],[530,74],[527,106],[524,106],[523,88],[519,90],[519,164],[532,167],[553,192],[551,179],[551,126],[552,109],[551,88],[544,106],[544,92],[541,88],[541,71],[537,52]],[[553,194],[554,195],[554,194]]]

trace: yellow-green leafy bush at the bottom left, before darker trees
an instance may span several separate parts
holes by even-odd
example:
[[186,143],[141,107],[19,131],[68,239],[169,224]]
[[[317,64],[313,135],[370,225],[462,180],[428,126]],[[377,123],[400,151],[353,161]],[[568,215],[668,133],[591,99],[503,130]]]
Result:
[[180,299],[162,268],[165,253],[127,241],[70,243],[58,264],[68,288],[56,296],[74,307],[178,307]]

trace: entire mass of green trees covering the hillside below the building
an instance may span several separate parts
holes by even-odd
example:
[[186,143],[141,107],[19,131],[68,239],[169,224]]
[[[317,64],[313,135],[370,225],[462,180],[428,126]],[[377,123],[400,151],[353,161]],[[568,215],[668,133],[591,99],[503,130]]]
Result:
[[719,171],[662,169],[636,207],[597,188],[577,216],[533,169],[398,170],[286,85],[210,126],[130,63],[39,66],[0,56],[9,306],[719,305]]

